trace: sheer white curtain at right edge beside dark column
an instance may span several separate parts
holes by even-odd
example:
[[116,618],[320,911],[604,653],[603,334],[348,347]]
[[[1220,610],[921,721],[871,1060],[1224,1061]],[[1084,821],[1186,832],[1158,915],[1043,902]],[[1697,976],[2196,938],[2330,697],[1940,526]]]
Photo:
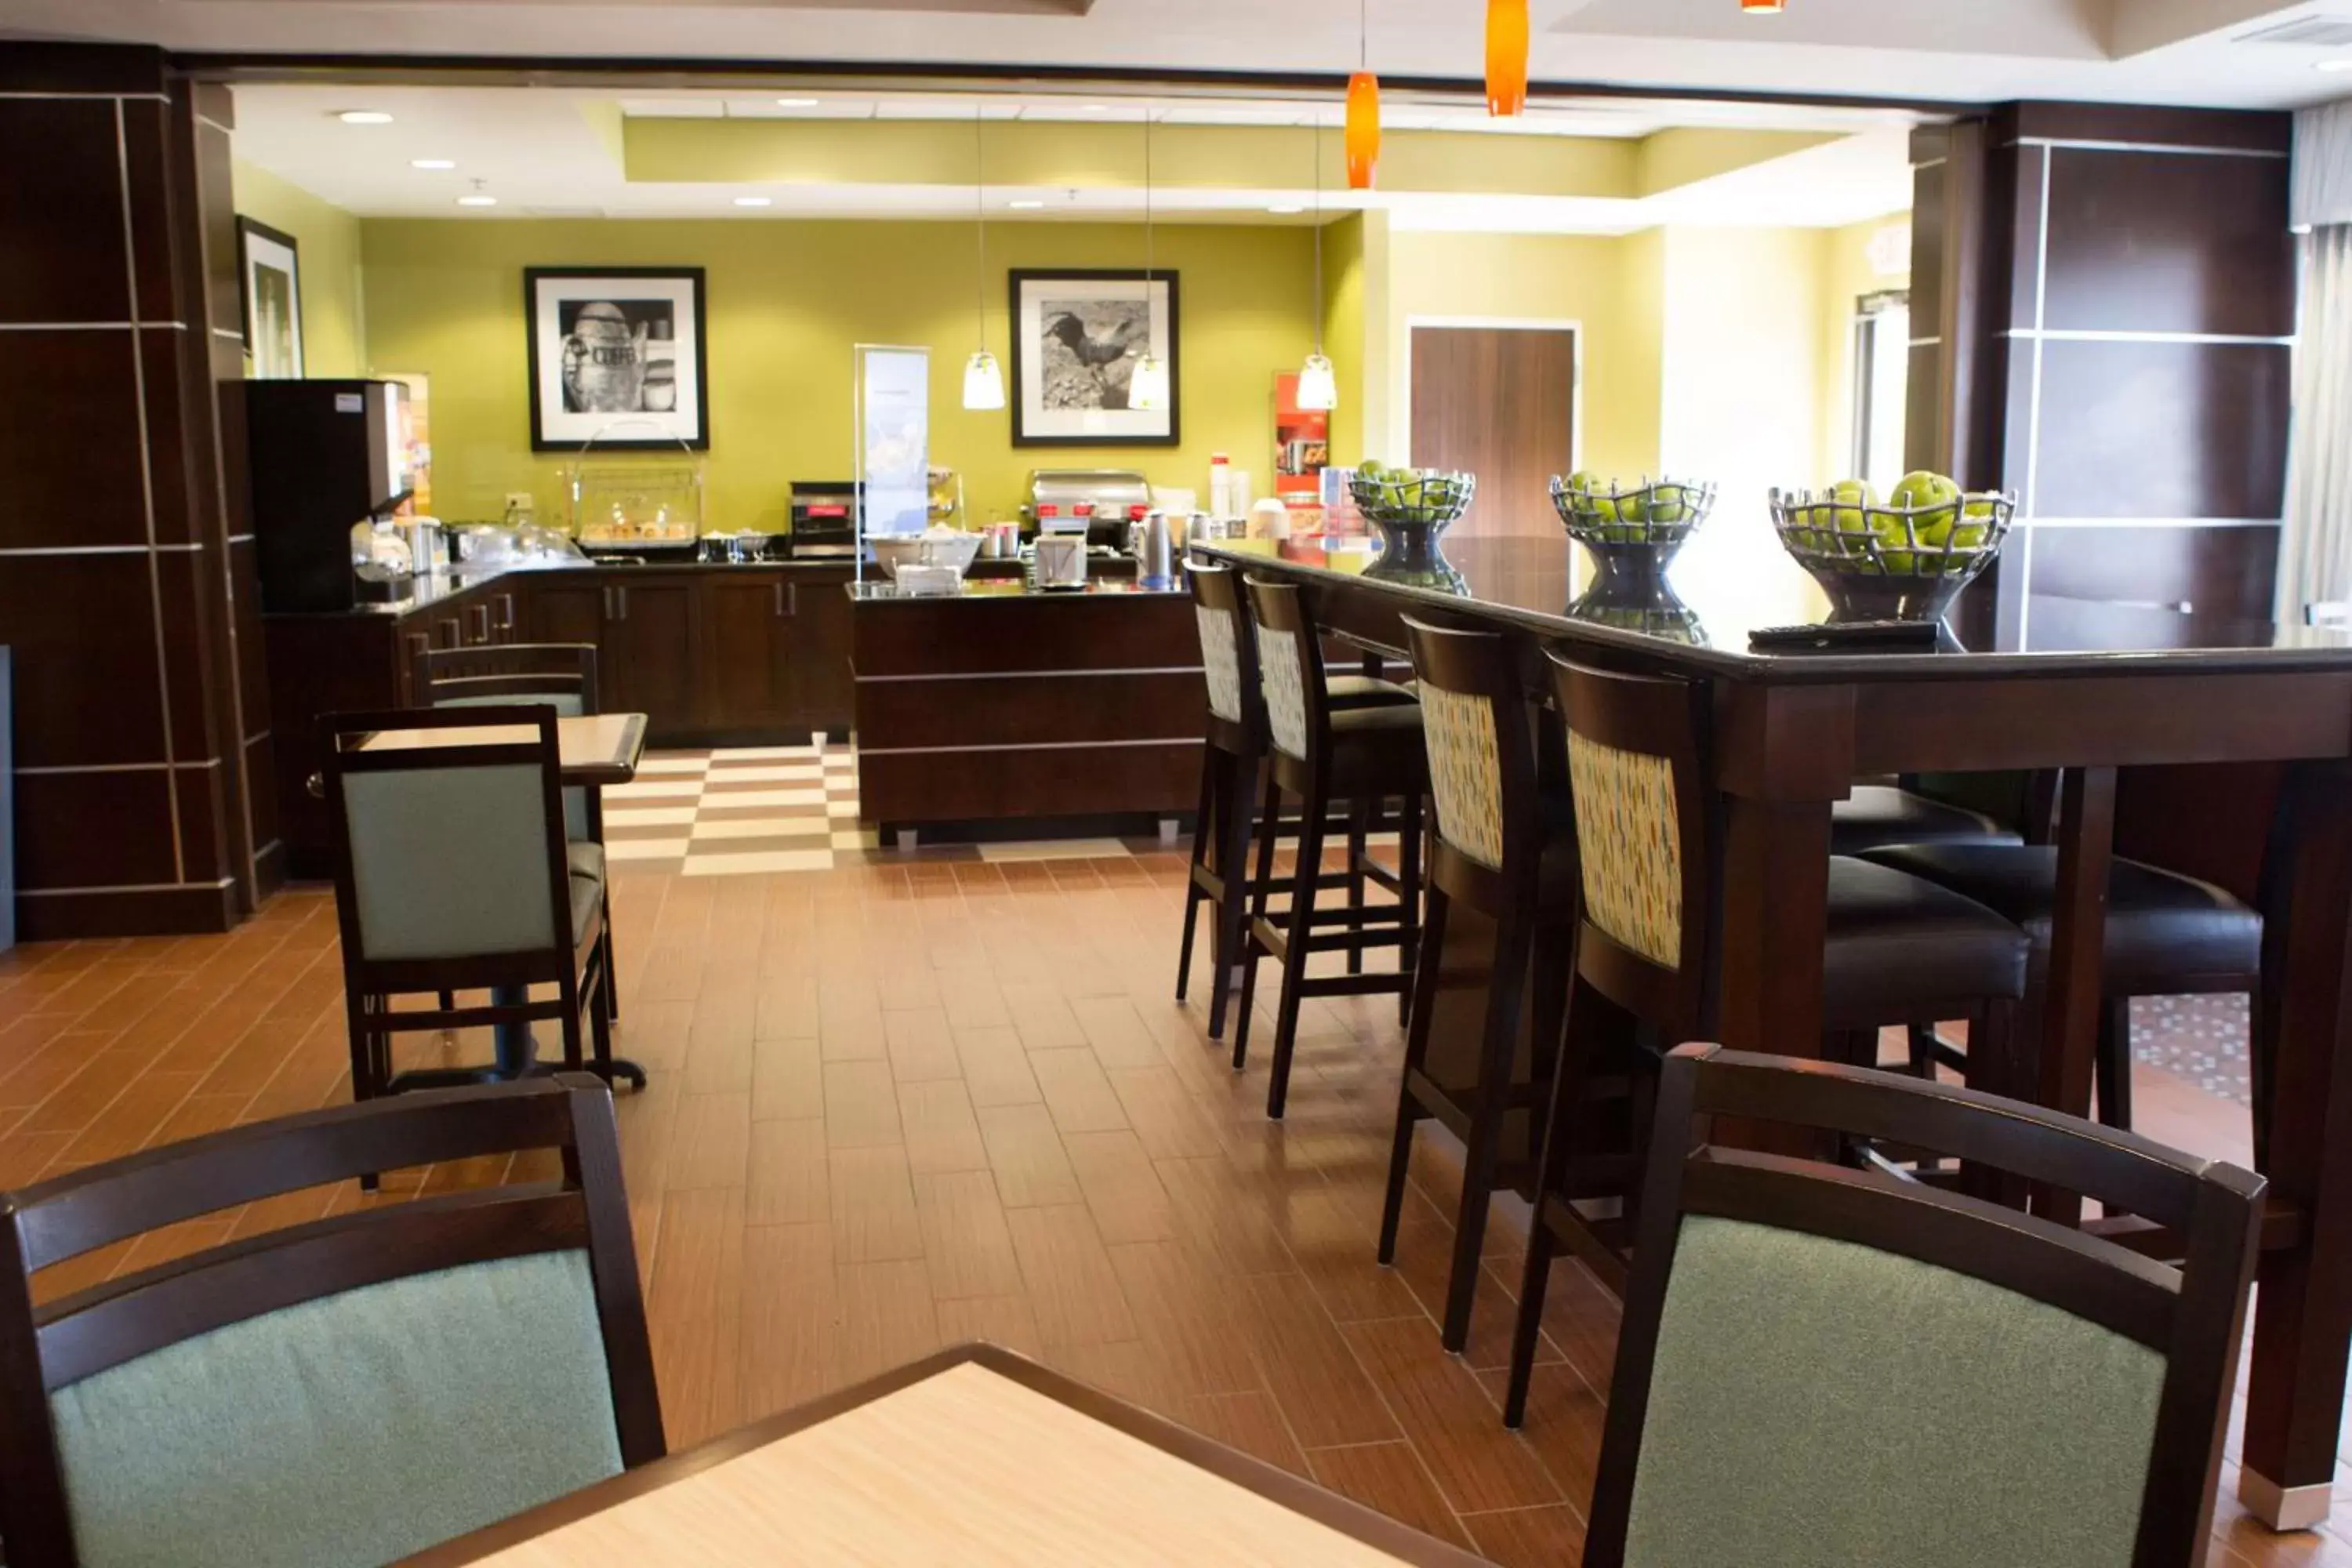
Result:
[[2352,223],[2303,237],[2296,435],[2279,536],[2281,623],[2352,599]]

